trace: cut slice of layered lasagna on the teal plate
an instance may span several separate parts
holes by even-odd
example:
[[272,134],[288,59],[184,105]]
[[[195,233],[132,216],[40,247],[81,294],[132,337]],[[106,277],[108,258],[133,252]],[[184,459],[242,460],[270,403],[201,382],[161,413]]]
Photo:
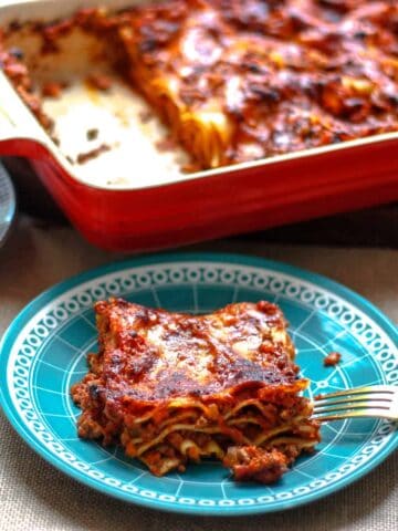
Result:
[[81,437],[122,445],[156,476],[212,457],[265,483],[320,441],[276,305],[197,316],[111,299],[95,311],[100,352],[72,387]]

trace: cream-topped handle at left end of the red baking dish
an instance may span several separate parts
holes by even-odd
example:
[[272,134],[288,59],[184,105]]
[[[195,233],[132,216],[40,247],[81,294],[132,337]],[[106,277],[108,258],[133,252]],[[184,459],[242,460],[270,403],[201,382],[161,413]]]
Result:
[[29,156],[48,147],[48,136],[0,71],[0,155]]

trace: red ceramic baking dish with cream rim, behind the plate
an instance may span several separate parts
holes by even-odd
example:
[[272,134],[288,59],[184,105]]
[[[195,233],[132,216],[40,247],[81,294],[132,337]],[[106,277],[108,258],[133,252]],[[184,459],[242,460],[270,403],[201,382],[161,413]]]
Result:
[[[0,27],[97,3],[134,2],[24,0],[0,8]],[[0,155],[28,157],[72,223],[105,249],[175,247],[398,199],[398,133],[186,175],[154,169],[139,152],[104,168],[100,157],[95,173],[104,175],[84,180],[0,72]],[[128,184],[107,185],[116,166]]]

